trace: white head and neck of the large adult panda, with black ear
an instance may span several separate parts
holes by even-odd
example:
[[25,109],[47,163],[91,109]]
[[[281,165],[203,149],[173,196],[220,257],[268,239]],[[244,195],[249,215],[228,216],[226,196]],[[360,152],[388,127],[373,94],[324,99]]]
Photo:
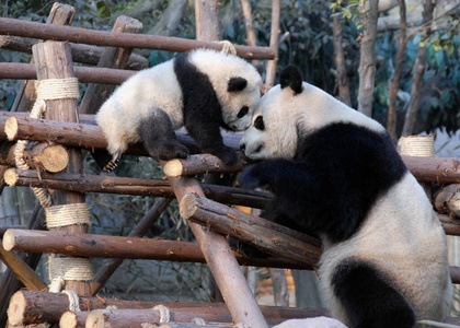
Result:
[[240,148],[253,160],[292,160],[302,140],[334,122],[384,130],[377,121],[303,82],[300,69],[288,66],[279,75],[279,84],[261,98]]

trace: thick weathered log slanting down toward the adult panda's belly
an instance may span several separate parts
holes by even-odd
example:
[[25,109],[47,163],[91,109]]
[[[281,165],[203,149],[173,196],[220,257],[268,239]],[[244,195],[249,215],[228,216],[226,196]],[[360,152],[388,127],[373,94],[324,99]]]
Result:
[[181,200],[180,208],[183,218],[229,234],[263,251],[312,267],[318,265],[321,243],[315,238],[193,194]]

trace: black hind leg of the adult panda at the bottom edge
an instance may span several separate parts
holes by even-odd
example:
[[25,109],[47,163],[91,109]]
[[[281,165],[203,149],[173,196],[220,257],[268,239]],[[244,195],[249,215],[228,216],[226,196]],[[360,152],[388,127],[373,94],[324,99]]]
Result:
[[352,327],[415,326],[414,311],[389,281],[378,268],[356,258],[347,259],[335,268],[331,284],[353,323]]

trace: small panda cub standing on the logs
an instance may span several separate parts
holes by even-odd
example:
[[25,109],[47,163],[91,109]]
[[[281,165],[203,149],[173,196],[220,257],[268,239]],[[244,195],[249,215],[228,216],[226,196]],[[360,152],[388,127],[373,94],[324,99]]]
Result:
[[114,169],[128,144],[139,141],[153,157],[186,159],[188,150],[174,133],[182,126],[203,152],[234,164],[237,154],[223,144],[220,127],[246,129],[260,87],[261,75],[252,65],[210,49],[184,52],[136,73],[97,113],[112,155],[103,169]]

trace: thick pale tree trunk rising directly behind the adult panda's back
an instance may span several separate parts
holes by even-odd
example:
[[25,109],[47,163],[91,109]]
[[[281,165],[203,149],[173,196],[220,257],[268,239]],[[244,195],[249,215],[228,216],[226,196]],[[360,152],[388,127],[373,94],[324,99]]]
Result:
[[363,37],[359,59],[358,110],[372,116],[373,89],[376,77],[376,37],[379,0],[360,0],[363,9]]

